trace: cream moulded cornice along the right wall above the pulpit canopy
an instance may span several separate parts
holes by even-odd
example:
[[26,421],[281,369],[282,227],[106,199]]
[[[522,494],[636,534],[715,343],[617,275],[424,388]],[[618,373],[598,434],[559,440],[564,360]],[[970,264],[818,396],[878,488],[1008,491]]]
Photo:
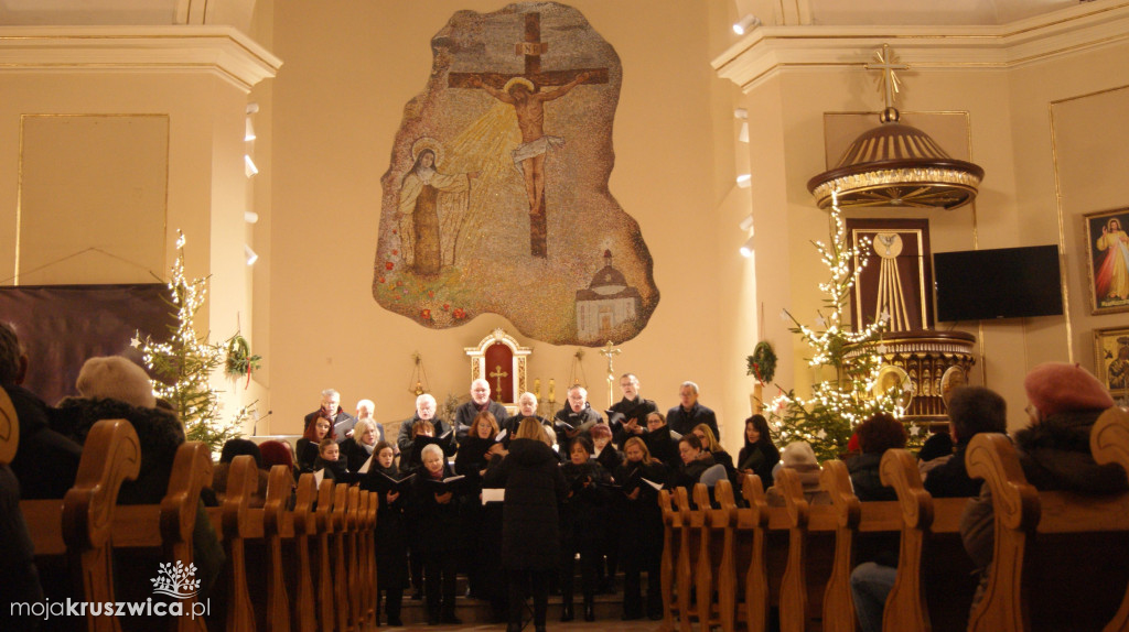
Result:
[[712,65],[747,94],[785,69],[861,68],[884,43],[918,70],[1000,70],[1127,39],[1129,1],[1099,0],[999,26],[761,26]]

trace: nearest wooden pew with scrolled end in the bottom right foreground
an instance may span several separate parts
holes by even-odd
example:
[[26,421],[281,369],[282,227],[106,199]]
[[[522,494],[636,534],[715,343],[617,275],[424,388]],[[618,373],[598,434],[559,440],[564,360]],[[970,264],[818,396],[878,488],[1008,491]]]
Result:
[[[1124,415],[1106,411],[1103,427]],[[969,474],[991,489],[996,534],[969,630],[1117,629],[1129,585],[1129,493],[1039,491],[1004,435],[973,437],[966,461]]]

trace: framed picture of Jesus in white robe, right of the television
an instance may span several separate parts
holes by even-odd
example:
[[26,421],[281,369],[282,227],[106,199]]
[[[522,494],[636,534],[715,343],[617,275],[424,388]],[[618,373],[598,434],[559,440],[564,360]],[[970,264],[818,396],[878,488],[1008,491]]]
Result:
[[1091,313],[1129,311],[1129,208],[1083,215]]

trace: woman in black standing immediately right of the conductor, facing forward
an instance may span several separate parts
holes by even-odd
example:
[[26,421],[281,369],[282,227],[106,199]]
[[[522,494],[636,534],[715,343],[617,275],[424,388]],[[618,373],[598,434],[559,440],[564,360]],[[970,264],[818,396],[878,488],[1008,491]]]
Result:
[[596,566],[604,541],[604,511],[611,475],[592,459],[592,439],[586,435],[569,442],[569,461],[561,465],[569,484],[568,501],[561,515],[561,621],[572,621],[572,585],[576,554],[580,554],[580,589],[584,618],[595,621]]

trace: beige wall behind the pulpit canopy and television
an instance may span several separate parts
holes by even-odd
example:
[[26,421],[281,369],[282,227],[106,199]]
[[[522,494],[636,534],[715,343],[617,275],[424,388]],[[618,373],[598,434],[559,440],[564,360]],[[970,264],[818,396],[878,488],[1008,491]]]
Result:
[[[1118,113],[1124,112],[1126,91],[1112,90],[1129,83],[1124,53],[1120,46],[1106,47],[1007,71],[920,69],[901,75],[904,89],[898,105],[907,122],[934,134],[955,157],[986,170],[974,208],[910,213],[929,217],[935,252],[1059,243],[1057,195],[1062,195],[1070,332],[1067,317],[956,326],[978,337],[972,382],[1005,395],[1012,426],[1025,422],[1022,379],[1027,370],[1069,357],[1093,367],[1092,329],[1129,320],[1088,315],[1078,237],[1082,213],[1126,206],[1118,190],[1124,180],[1126,151],[1123,114]],[[1094,94],[1101,90],[1111,91]],[[811,323],[822,299],[815,284],[828,276],[808,243],[828,239],[826,215],[815,210],[806,181],[826,168],[825,113],[874,112],[878,99],[874,74],[861,69],[789,69],[742,97],[751,119],[785,131],[758,135],[750,145],[758,229],[776,224],[787,230],[787,239],[758,243],[759,258],[787,261],[786,276],[780,276],[780,266],[758,267],[756,288],[758,300],[765,304],[764,337],[784,350],[781,383],[800,392],[813,380],[803,362],[809,354],[777,314],[787,308]],[[945,137],[945,132],[913,122],[913,113],[963,113],[968,137]],[[763,157],[776,157],[778,164],[773,168]],[[786,368],[789,359],[791,371]]]

